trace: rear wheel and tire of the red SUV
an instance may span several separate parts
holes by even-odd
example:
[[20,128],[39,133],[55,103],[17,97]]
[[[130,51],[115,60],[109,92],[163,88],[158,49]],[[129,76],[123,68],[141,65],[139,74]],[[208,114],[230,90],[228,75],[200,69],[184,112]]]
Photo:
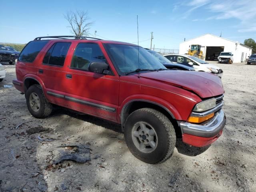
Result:
[[26,91],[28,110],[35,118],[45,118],[52,112],[52,104],[49,103],[40,85],[32,85]]

